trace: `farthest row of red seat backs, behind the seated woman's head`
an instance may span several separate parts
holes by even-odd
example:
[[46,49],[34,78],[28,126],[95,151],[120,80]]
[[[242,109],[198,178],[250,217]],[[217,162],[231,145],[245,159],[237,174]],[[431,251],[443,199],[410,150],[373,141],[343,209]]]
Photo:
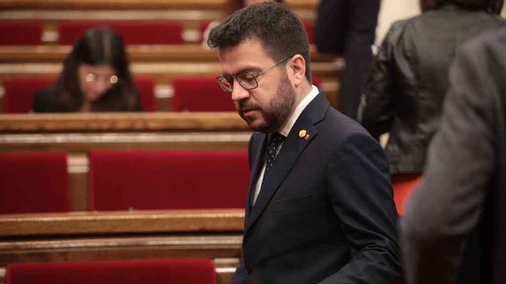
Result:
[[[209,21],[202,22],[198,41]],[[67,20],[61,21],[56,27],[57,40],[60,45],[73,45],[89,28],[107,26],[118,31],[126,45],[134,44],[184,44],[183,23],[167,20]],[[310,43],[314,42],[313,23],[304,21]],[[0,21],[0,45],[41,45],[44,44],[44,23],[29,20]]]

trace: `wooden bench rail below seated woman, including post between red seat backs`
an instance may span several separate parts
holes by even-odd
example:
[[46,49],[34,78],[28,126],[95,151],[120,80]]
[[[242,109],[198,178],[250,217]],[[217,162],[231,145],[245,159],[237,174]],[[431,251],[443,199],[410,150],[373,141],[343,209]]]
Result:
[[0,114],[0,152],[67,153],[71,210],[88,208],[92,150],[246,150],[251,134],[230,113]]

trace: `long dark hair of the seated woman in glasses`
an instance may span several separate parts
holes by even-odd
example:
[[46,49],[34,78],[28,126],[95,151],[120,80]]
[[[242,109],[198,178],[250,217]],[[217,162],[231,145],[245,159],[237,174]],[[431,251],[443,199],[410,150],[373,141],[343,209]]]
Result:
[[108,65],[116,71],[118,77],[96,102],[91,111],[134,111],[139,101],[132,76],[129,60],[121,36],[114,30],[97,27],[87,30],[74,44],[72,53],[67,57],[57,87],[60,101],[71,111],[79,111],[84,102],[84,94],[79,88],[78,68],[81,64]]

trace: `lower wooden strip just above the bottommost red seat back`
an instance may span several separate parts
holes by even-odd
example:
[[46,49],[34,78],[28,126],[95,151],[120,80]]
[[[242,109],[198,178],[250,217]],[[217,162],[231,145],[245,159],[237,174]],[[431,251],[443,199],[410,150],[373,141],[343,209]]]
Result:
[[139,236],[0,242],[0,265],[33,261],[239,258],[242,235]]

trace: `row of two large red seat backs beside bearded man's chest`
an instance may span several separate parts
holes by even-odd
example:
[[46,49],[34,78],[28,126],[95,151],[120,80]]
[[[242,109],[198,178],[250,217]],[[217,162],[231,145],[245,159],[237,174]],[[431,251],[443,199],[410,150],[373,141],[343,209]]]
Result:
[[[246,151],[93,151],[88,210],[243,208]],[[64,153],[0,153],[1,214],[66,212]]]

